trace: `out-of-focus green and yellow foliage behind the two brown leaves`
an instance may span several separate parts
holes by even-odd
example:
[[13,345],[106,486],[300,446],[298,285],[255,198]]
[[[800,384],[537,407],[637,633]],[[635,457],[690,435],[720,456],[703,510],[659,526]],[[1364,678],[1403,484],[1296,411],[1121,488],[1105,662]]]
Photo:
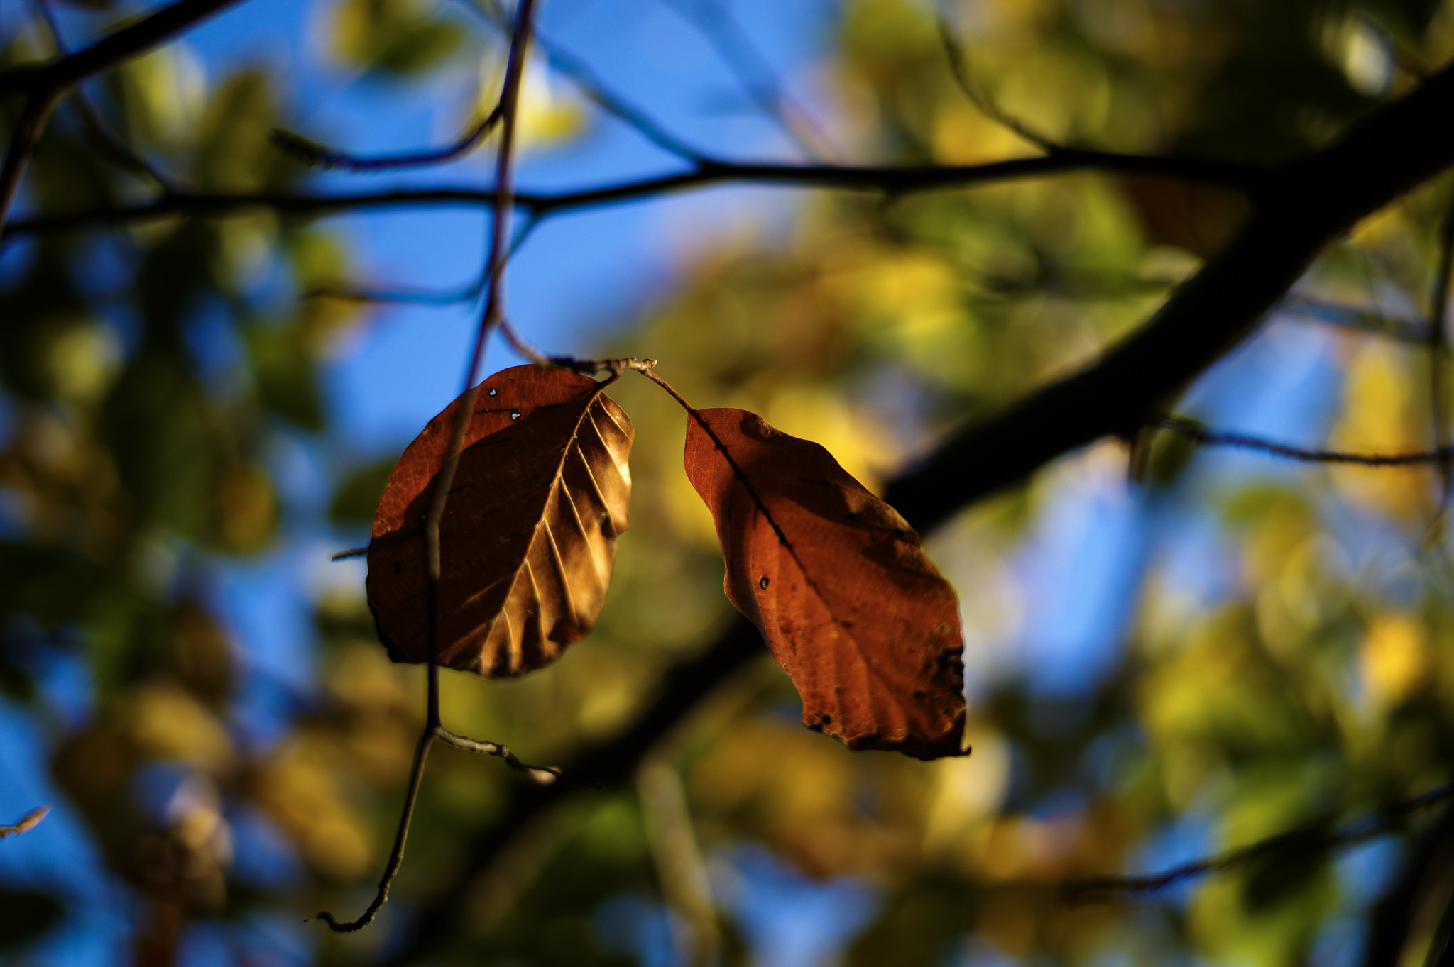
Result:
[[[1454,54],[1454,4],[1434,0],[977,0],[944,12],[995,105],[1053,139],[1127,152],[1297,157]],[[1034,152],[965,97],[928,4],[848,0],[839,13],[824,77],[852,157]],[[480,81],[455,57],[484,29],[462,6],[339,0],[327,23],[329,55],[377,83]],[[6,64],[42,52],[29,32],[0,38]],[[199,190],[298,187],[302,171],[269,142],[288,126],[275,80],[238,70],[204,81],[190,57],[172,46],[111,74],[100,109],[112,128]],[[26,183],[38,212],[147,187],[64,112]],[[1422,306],[1448,192],[1431,183],[1358,225],[1300,292]],[[743,218],[708,232],[599,348],[656,357],[694,404],[753,409],[878,486],[951,425],[1133,330],[1245,215],[1234,193],[1109,174],[891,199],[806,193],[787,229]],[[334,468],[332,502],[298,508],[282,505],[268,459],[289,434],[321,446],[336,433],[321,370],[362,312],[320,293],[353,280],[349,237],[252,212],[10,244],[0,688],[52,723],[52,774],[137,899],[135,960],[174,960],[188,923],[352,915],[393,835],[423,674],[388,662],[362,588],[321,591],[316,688],[282,713],[279,736],[244,740],[241,682],[257,672],[211,584],[217,562],[326,526],[304,514],[356,536],[393,463]],[[105,292],[83,269],[97,250],[125,266]],[[260,298],[276,279],[286,298]],[[225,363],[196,353],[202,325],[227,334]],[[1422,347],[1365,331],[1294,335],[1336,360],[1320,389],[1332,446],[1426,446]],[[646,380],[611,392],[637,427],[637,499],[601,626],[525,680],[443,681],[451,727],[529,761],[563,761],[622,727],[660,672],[730,620],[711,520],[680,473],[680,411]],[[724,963],[753,955],[752,913],[731,899],[752,889],[733,887],[743,844],[807,878],[868,884],[868,919],[840,951],[855,966],[997,955],[1274,967],[1326,960],[1326,938],[1368,916],[1380,889],[1312,833],[1168,896],[1075,906],[1057,891],[1186,858],[1169,842],[1218,852],[1326,831],[1450,781],[1454,765],[1454,585],[1437,475],[1245,469],[1243,457],[1223,473],[1223,453],[1165,434],[1147,446],[1136,499],[1168,537],[1127,592],[1127,627],[1108,630],[1108,665],[1075,694],[1038,687],[1035,661],[1016,653],[1035,645],[1027,610],[1040,604],[1022,562],[1069,495],[1127,486],[1125,449],[1069,457],[932,536],[964,603],[973,756],[851,754],[797,725],[791,685],[768,662],[663,738],[654,755],[679,777]],[[1197,546],[1198,579],[1169,550],[1185,533],[1214,534]],[[57,714],[39,687],[57,652],[87,669],[83,714]],[[137,790],[163,765],[189,791],[158,815]],[[631,939],[619,913],[631,903],[666,918],[657,948],[672,929],[689,948],[689,918],[664,913],[679,897],[647,832],[662,817],[630,788],[577,796],[489,870],[467,870],[461,844],[502,819],[518,781],[496,761],[436,751],[391,906],[358,937],[313,925],[318,960],[387,960],[409,912],[443,890],[464,891],[465,916],[439,938],[441,963],[662,963]],[[292,876],[237,876],[240,816],[278,833]],[[1397,858],[1387,862],[1380,876],[1396,880]],[[1450,893],[1431,890],[1386,963],[1422,963]],[[9,955],[60,916],[48,894],[0,893],[0,947]]]

